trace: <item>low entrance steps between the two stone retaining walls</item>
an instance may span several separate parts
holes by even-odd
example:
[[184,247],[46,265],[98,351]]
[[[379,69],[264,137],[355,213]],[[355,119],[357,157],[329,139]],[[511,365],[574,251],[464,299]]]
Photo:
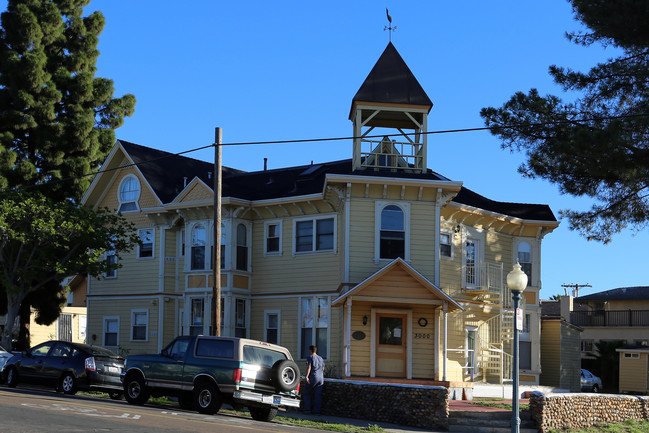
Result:
[[[521,412],[521,433],[538,433],[528,412]],[[449,412],[448,431],[458,433],[511,433],[512,413],[509,411]]]

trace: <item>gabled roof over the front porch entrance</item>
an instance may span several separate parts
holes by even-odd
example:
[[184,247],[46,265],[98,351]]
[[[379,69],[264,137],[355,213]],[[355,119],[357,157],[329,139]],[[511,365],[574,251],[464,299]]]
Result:
[[[338,307],[340,305],[343,305],[347,298],[350,296],[362,296],[363,292],[368,291],[371,287],[373,287],[377,282],[385,279],[388,275],[393,274],[397,272],[398,270],[405,271],[407,276],[414,280],[415,282],[418,283],[419,287],[425,291],[426,293],[426,298],[428,300],[433,300],[433,301],[439,301],[440,304],[442,304],[444,301],[448,302],[448,311],[462,311],[464,310],[464,307],[460,305],[457,301],[455,301],[452,297],[444,293],[442,289],[437,287],[435,284],[433,284],[428,278],[424,277],[422,274],[420,274],[415,268],[410,266],[408,263],[406,263],[404,260],[401,258],[396,258],[387,265],[385,265],[383,268],[379,269],[369,277],[367,277],[365,280],[362,282],[358,283],[356,286],[352,287],[350,290],[336,298],[333,302],[332,305],[334,307]],[[407,303],[420,303],[423,301],[423,299],[418,299],[418,298],[406,298],[404,299],[403,297],[399,296],[399,288],[395,287],[395,292],[394,292],[394,301],[397,301],[398,299],[401,298],[403,302]]]

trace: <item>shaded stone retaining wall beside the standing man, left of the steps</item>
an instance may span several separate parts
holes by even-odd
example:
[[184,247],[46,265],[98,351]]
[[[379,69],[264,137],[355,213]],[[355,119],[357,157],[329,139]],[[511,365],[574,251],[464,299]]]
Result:
[[[300,389],[304,389],[304,382]],[[447,430],[448,389],[325,379],[322,413]]]

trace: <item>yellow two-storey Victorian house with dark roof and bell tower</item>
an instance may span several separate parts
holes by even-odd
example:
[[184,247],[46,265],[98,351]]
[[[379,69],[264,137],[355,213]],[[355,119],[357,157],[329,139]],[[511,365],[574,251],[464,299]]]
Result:
[[[432,105],[390,43],[353,98],[351,159],[224,168],[223,335],[298,360],[317,344],[339,377],[502,382],[518,260],[520,379],[539,383],[541,243],[558,223],[546,205],[493,201],[430,170]],[[102,168],[83,203],[121,211],[142,245],[89,281],[89,340],[141,353],[212,333],[213,164],[120,140]]]

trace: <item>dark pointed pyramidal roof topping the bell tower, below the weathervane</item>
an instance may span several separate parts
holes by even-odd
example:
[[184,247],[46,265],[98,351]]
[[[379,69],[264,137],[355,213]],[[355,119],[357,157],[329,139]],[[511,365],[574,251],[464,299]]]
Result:
[[379,57],[353,101],[433,106],[392,42]]

